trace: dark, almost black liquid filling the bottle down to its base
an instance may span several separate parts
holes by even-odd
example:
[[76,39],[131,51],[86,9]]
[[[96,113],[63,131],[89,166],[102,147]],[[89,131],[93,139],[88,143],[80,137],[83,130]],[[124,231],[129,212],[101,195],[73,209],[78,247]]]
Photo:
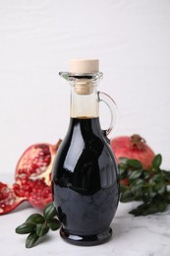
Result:
[[119,200],[117,165],[98,118],[71,118],[53,166],[61,235],[75,244],[102,243]]

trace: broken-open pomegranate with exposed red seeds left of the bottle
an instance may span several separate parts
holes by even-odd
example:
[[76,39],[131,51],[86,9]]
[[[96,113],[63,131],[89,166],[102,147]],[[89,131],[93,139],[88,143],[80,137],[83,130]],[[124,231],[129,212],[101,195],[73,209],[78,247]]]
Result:
[[0,215],[7,214],[22,202],[43,209],[52,201],[51,170],[61,143],[30,146],[17,163],[15,183],[0,182]]

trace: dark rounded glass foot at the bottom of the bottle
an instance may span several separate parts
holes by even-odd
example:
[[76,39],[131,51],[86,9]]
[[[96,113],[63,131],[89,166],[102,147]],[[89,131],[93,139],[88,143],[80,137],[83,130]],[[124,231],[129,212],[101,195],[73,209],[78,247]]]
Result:
[[109,227],[108,230],[102,233],[92,235],[78,235],[71,233],[65,228],[61,227],[60,235],[68,243],[81,246],[92,246],[99,245],[108,241],[112,235],[112,229]]

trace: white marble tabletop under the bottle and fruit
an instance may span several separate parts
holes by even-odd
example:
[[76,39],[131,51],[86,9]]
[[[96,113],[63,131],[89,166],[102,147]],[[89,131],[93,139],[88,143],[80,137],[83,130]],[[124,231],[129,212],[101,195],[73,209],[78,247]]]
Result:
[[[5,175],[4,175],[5,177]],[[1,181],[7,181],[1,175]],[[163,214],[133,217],[128,214],[137,202],[120,203],[111,224],[112,238],[93,247],[70,245],[62,240],[58,231],[50,231],[46,240],[33,248],[25,248],[27,235],[15,233],[17,225],[26,221],[37,210],[24,204],[13,213],[0,216],[0,255],[23,256],[170,256],[170,207]]]

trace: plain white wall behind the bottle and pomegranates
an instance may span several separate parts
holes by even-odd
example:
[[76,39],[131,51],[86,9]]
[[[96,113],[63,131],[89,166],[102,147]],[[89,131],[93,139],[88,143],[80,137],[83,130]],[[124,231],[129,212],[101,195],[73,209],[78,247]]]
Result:
[[29,145],[64,138],[70,88],[58,72],[71,58],[99,58],[115,136],[141,134],[170,169],[169,0],[0,0],[0,173]]

